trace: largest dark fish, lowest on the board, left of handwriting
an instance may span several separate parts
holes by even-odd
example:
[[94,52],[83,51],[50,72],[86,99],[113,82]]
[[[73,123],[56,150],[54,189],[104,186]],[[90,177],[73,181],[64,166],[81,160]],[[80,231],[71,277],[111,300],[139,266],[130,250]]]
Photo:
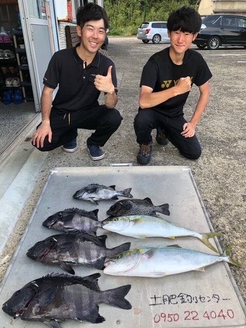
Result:
[[27,283],[3,304],[3,311],[14,319],[41,321],[51,328],[61,328],[58,322],[68,319],[100,323],[99,303],[130,310],[125,296],[131,285],[107,291],[99,289],[99,273],[87,276],[49,274]]

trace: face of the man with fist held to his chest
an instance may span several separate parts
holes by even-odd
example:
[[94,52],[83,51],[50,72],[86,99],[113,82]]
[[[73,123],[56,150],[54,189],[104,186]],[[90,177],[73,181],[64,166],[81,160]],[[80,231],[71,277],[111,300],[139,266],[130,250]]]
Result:
[[198,33],[192,34],[190,32],[168,31],[170,37],[170,55],[183,55],[191,46],[192,41],[196,38]]

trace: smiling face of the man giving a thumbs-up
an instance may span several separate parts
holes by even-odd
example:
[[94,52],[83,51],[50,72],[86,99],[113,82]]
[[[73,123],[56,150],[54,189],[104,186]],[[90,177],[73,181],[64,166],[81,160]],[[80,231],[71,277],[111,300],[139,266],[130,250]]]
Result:
[[81,29],[77,26],[78,36],[81,38],[81,46],[89,53],[95,53],[103,45],[106,29],[104,26],[104,19],[89,20]]

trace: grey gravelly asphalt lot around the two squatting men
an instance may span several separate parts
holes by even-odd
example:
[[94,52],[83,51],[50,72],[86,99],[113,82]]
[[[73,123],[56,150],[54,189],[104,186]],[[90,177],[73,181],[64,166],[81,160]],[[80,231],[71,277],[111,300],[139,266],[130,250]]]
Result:
[[[86,139],[90,135],[90,131],[79,131],[78,150],[71,154],[65,153],[61,148],[47,154],[41,154],[36,149],[32,150],[40,167],[33,171],[35,179],[32,191],[25,195],[23,209],[17,217],[13,232],[1,254],[1,280],[19,239],[27,227],[51,169],[56,167],[107,167],[110,163],[132,163],[133,166],[138,166],[136,161],[138,145],[134,134],[133,120],[138,109],[141,70],[153,53],[168,46],[169,44],[165,43],[144,44],[136,37],[109,38],[109,55],[115,62],[118,78],[117,109],[124,118],[122,124],[104,147],[106,156],[100,161],[90,160],[86,150]],[[207,48],[197,49],[194,45],[191,48],[202,54],[213,74],[210,81],[210,100],[196,128],[202,155],[195,161],[183,158],[170,143],[164,147],[158,145],[155,142],[155,132],[153,131],[154,142],[149,166],[189,166],[214,230],[224,233],[222,237],[219,237],[222,250],[229,243],[233,243],[232,258],[246,263],[246,49],[221,47],[217,51],[210,51]],[[198,88],[193,86],[185,107],[185,117],[188,120],[194,111],[197,97]],[[25,138],[31,137],[34,129],[35,127],[31,127]],[[16,147],[14,151],[18,149],[20,155],[25,156],[27,146],[23,139],[18,140]],[[28,174],[31,174],[30,166]],[[28,181],[26,182],[28,183]],[[111,184],[110,182],[109,185]],[[11,211],[11,206],[14,204],[10,197],[6,208]],[[246,301],[246,271],[232,266],[231,270],[242,297]],[[220,279],[220,277],[214,277],[214,279]]]

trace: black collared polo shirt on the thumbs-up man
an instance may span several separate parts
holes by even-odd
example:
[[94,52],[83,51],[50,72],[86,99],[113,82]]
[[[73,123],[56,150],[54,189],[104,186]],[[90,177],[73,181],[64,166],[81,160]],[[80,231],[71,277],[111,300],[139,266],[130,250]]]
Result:
[[106,76],[111,65],[112,82],[117,88],[113,60],[97,51],[92,63],[85,67],[76,47],[54,53],[43,81],[44,85],[52,89],[58,86],[52,106],[65,112],[89,109],[98,105],[100,91],[94,85],[94,78],[97,74]]

